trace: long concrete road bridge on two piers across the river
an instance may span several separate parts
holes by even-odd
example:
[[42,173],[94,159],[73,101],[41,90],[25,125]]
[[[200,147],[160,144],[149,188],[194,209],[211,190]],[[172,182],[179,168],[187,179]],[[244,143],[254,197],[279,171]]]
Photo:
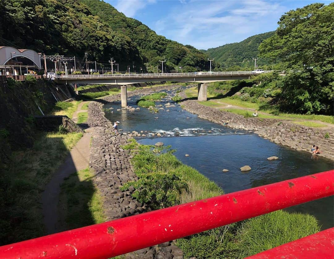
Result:
[[[262,71],[273,72],[272,70]],[[195,73],[165,73],[165,74],[112,74],[112,75],[60,75],[55,78],[57,83],[81,84],[119,84],[121,85],[122,107],[127,106],[127,86],[132,83],[146,83],[156,81],[197,82],[198,100],[207,100],[207,83],[248,79],[256,75],[255,71],[230,72],[195,72]]]

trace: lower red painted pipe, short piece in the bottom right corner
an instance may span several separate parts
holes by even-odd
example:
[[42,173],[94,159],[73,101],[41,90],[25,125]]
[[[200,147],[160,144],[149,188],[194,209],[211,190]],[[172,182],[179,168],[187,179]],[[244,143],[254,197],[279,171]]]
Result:
[[334,258],[334,228],[272,248],[245,259]]

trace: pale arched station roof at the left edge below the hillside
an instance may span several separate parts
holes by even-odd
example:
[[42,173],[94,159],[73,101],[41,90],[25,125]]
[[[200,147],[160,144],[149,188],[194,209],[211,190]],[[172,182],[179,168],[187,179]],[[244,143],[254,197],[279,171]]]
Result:
[[34,62],[34,64],[41,69],[40,53],[32,49],[17,49],[10,46],[0,46],[0,65],[5,65],[11,59],[11,52],[16,52],[15,54],[12,53],[13,58],[25,57]]

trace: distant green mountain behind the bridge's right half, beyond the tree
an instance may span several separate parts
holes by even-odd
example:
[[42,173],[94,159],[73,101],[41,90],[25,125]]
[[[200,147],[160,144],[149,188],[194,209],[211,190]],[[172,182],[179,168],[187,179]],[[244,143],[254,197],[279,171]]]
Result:
[[[210,58],[214,58],[215,63],[221,68],[228,68],[232,66],[240,66],[242,68],[254,69],[254,61],[252,58],[258,56],[258,47],[260,43],[274,35],[274,31],[254,35],[247,39],[225,44],[216,48],[209,48],[205,50]],[[270,62],[265,59],[257,60],[259,68],[263,65],[269,65]]]

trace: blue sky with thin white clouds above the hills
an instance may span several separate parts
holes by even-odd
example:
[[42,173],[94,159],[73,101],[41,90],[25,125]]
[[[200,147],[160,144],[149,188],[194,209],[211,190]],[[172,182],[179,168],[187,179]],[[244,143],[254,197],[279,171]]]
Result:
[[[275,30],[282,14],[316,1],[105,0],[157,34],[198,49]],[[318,1],[329,4],[331,1]]]

